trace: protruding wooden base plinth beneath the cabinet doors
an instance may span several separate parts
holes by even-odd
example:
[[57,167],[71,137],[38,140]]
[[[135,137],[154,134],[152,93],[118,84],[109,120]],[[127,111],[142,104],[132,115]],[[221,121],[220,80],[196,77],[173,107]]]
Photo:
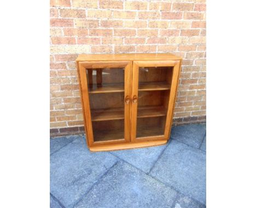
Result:
[[92,152],[97,152],[97,151],[126,150],[126,149],[133,149],[133,148],[147,148],[149,146],[164,145],[167,143],[167,141],[168,141],[167,139],[164,139],[164,140],[155,140],[155,141],[147,141],[147,142],[104,144],[104,145],[90,146],[89,149]]

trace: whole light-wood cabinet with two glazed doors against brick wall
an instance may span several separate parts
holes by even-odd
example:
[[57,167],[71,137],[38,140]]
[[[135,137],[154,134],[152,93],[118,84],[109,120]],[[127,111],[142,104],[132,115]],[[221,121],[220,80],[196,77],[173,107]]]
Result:
[[77,70],[89,149],[165,144],[170,137],[181,61],[170,53],[79,55]]

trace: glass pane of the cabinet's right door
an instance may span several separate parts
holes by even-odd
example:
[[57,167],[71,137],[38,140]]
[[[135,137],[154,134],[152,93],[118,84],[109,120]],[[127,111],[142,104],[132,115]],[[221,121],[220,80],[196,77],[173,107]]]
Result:
[[140,67],[136,138],[163,136],[172,67]]

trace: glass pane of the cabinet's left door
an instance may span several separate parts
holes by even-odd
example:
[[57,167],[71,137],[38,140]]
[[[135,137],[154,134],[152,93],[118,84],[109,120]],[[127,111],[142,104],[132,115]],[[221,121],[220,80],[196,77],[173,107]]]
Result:
[[86,69],[95,142],[124,140],[124,68]]

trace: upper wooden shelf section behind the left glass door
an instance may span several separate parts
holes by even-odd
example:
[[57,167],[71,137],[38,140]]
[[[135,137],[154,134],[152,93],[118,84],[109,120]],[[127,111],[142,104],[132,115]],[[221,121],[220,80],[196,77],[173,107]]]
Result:
[[89,93],[119,93],[124,92],[124,83],[118,84],[92,84],[88,86]]

